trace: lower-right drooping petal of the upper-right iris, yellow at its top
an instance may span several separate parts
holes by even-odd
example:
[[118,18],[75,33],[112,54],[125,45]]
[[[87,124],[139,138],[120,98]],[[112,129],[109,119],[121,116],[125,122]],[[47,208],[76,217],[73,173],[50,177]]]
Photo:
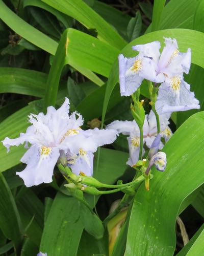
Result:
[[190,92],[190,85],[180,78],[176,79],[176,82],[169,80],[159,87],[155,104],[159,115],[200,108],[199,101],[195,99],[194,93]]

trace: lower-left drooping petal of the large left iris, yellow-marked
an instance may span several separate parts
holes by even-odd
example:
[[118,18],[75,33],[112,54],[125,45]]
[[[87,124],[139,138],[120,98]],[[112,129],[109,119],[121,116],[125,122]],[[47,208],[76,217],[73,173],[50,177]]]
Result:
[[23,179],[25,186],[30,187],[41,183],[52,182],[53,170],[60,156],[59,148],[32,146],[22,157],[27,166],[20,173],[16,173]]

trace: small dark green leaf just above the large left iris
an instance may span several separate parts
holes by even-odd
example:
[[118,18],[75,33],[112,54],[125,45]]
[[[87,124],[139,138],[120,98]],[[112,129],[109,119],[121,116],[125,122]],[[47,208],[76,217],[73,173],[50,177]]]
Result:
[[77,106],[86,97],[82,86],[75,83],[74,80],[71,79],[71,77],[68,78],[67,88],[69,99],[71,100],[71,102],[73,102],[74,106]]

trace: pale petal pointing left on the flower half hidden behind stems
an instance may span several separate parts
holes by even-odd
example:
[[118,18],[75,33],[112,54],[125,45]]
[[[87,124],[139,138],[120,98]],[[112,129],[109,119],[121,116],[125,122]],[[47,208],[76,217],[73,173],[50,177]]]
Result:
[[112,123],[106,126],[106,129],[114,129],[117,130],[118,133],[122,133],[123,135],[130,135],[134,132],[134,130],[139,130],[139,127],[135,120],[133,121],[118,121],[115,120]]

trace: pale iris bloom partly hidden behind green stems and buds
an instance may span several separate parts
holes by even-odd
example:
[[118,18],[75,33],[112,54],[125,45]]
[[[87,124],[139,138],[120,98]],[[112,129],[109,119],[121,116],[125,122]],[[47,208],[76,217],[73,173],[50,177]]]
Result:
[[[161,136],[167,141],[172,132],[168,127],[169,121],[166,115],[162,115],[160,118],[160,129]],[[133,121],[113,121],[106,127],[107,129],[115,129],[118,133],[124,135],[129,135],[127,141],[129,144],[130,157],[126,162],[130,166],[135,164],[138,161],[139,150],[140,150],[140,131],[135,120]],[[153,111],[150,111],[149,115],[145,115],[144,125],[143,125],[143,143],[150,148],[152,142],[157,136],[157,120]],[[160,143],[159,149],[163,148],[162,142]],[[144,154],[144,149],[143,149]]]

